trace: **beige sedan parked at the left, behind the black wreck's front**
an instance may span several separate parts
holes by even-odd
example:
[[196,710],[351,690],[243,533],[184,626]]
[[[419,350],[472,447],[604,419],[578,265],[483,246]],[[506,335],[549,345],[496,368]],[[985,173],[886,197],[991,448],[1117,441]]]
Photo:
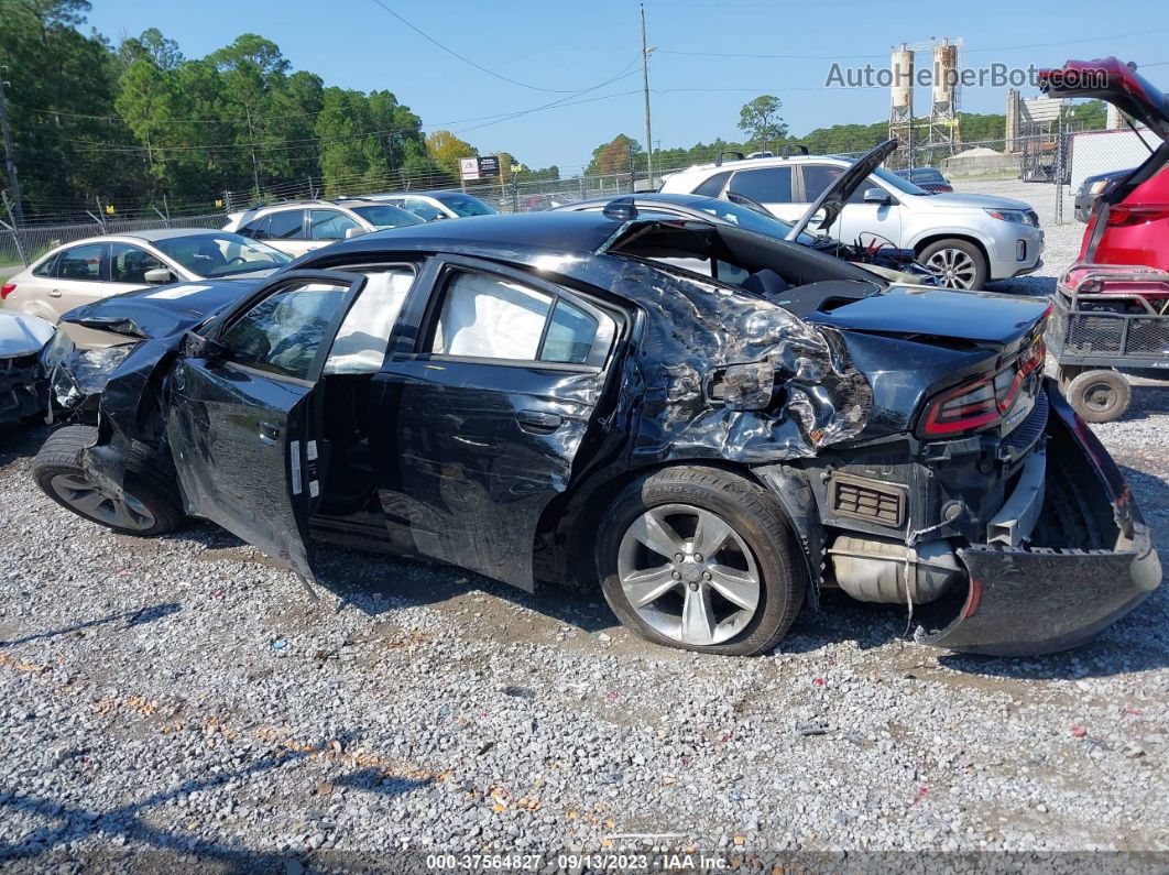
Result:
[[109,234],[57,246],[5,280],[6,310],[56,322],[92,304],[150,285],[262,277],[289,258],[263,243],[212,228]]

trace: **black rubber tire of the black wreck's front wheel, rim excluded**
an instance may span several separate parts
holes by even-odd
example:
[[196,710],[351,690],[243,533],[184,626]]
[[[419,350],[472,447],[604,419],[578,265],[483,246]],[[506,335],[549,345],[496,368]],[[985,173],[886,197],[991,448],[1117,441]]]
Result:
[[56,478],[88,480],[81,465],[81,452],[84,447],[91,446],[96,439],[97,429],[92,425],[68,425],[49,435],[33,460],[33,477],[41,491],[67,511],[126,535],[153,537],[174,532],[182,526],[186,515],[182,513],[182,500],[170,460],[164,463],[155,453],[150,452],[148,447],[138,443],[133,445],[126,463],[125,494],[131,496],[137,506],[145,508],[148,518],[139,526],[122,526],[70,504],[61,492],[63,488],[61,480]]

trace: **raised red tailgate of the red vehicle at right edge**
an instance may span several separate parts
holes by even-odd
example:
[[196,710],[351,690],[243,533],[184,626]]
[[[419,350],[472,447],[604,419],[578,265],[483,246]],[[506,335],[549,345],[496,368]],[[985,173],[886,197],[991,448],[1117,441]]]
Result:
[[1047,97],[1107,100],[1169,140],[1169,97],[1114,57],[1068,61],[1060,68],[1039,70],[1039,90]]

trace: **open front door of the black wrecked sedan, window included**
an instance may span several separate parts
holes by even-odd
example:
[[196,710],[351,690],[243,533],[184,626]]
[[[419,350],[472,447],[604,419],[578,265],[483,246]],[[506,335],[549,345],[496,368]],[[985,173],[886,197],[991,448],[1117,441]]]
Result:
[[312,579],[307,520],[325,471],[320,380],[365,277],[291,271],[187,335],[166,433],[187,509]]

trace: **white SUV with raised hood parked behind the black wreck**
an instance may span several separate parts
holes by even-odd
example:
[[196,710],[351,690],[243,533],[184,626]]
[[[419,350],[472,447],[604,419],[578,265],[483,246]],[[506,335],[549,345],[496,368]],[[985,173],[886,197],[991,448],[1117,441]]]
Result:
[[[808,154],[720,159],[667,176],[660,190],[741,195],[795,222],[851,165],[846,158]],[[935,194],[881,167],[849,196],[831,232],[842,243],[876,236],[912,249],[952,289],[981,289],[989,279],[1030,273],[1042,264],[1043,231],[1031,204],[981,194]]]

